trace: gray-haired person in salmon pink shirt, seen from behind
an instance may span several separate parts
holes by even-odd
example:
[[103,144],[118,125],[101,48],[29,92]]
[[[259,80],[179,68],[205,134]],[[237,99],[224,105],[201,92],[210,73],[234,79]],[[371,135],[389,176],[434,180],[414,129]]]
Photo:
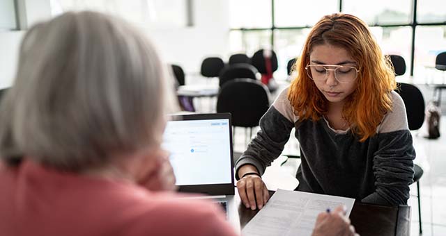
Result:
[[[236,235],[218,206],[172,191],[164,68],[144,35],[100,13],[26,33],[0,104],[1,235]],[[325,213],[315,233],[351,232],[347,220]]]

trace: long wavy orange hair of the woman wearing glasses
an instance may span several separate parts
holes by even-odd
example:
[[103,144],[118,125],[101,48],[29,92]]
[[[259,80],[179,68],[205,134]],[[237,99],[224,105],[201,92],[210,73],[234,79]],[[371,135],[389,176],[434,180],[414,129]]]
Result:
[[288,92],[294,113],[300,120],[316,121],[328,111],[328,101],[305,71],[315,46],[330,44],[346,49],[360,70],[356,90],[348,96],[342,117],[351,124],[360,142],[376,133],[384,115],[392,108],[390,92],[397,87],[389,58],[383,56],[367,25],[348,14],[326,15],[312,28],[295,64],[298,72]]

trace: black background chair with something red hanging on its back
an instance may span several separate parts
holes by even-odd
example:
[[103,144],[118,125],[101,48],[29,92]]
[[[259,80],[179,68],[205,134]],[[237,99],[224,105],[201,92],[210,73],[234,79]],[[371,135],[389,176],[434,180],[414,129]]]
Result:
[[277,55],[272,50],[260,49],[256,51],[251,58],[251,64],[262,75],[261,81],[268,86],[268,89],[273,92],[277,89],[277,85],[273,82],[272,74],[277,70]]

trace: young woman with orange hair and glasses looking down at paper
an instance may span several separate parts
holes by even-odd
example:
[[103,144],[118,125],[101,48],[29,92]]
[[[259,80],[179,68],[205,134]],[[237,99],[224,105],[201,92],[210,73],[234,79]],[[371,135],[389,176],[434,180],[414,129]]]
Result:
[[327,15],[299,58],[297,78],[262,117],[236,163],[243,203],[254,210],[268,201],[261,174],[295,128],[302,160],[296,190],[406,204],[412,137],[392,67],[367,25],[353,15]]

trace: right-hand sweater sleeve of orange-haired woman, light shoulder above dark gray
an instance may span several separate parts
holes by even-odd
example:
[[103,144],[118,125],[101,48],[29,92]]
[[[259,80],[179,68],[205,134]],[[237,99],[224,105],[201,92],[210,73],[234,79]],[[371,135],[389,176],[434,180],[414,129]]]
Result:
[[409,198],[415,150],[408,130],[404,103],[398,94],[392,95],[392,111],[385,115],[377,134],[378,149],[373,160],[376,191],[362,199],[362,202],[406,205]]

